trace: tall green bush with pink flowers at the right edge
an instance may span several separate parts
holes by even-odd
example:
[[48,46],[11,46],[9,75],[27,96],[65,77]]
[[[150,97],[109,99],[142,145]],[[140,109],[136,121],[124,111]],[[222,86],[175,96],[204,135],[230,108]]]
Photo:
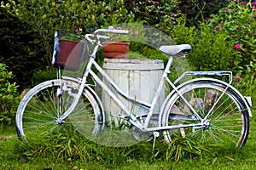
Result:
[[229,65],[236,75],[235,85],[255,100],[256,2],[232,1],[227,8],[220,10],[219,14],[212,15],[208,24],[212,30],[227,34],[227,41],[233,47]]

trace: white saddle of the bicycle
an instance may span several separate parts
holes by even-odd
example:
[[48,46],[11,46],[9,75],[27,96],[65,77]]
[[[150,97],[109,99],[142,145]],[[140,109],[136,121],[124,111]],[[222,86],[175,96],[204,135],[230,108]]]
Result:
[[161,46],[160,51],[176,57],[184,54],[188,54],[189,51],[191,50],[191,46],[189,44],[180,44],[180,45],[167,45],[167,46]]

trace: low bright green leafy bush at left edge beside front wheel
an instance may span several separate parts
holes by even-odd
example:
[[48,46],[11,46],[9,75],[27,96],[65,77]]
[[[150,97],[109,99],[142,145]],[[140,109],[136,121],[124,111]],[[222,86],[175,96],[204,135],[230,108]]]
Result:
[[17,97],[16,83],[10,83],[9,80],[13,77],[12,72],[7,71],[7,67],[0,63],[0,122],[14,122],[15,112],[19,104]]

